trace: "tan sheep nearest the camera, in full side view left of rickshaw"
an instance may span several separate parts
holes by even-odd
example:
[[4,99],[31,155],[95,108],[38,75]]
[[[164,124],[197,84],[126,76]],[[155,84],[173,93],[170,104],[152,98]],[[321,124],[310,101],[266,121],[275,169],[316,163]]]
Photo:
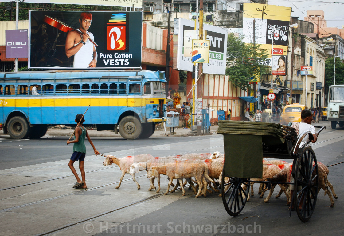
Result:
[[[199,197],[201,195],[201,191],[203,190],[203,196],[206,196],[206,181],[204,179],[207,178],[209,181],[213,182],[213,180],[208,176],[208,166],[201,160],[191,159],[191,160],[183,160],[183,161],[174,161],[173,163],[168,163],[161,166],[152,166],[150,167],[149,171],[147,172],[147,178],[151,178],[153,176],[159,177],[160,174],[164,174],[170,177],[170,181],[166,192],[164,195],[168,194],[170,186],[172,184],[173,179],[178,179],[179,184],[182,188],[182,196],[185,196],[185,190],[183,188],[183,178],[191,178],[195,177],[196,181],[200,185],[198,189],[198,193],[195,197]],[[214,183],[214,182],[213,182]]]

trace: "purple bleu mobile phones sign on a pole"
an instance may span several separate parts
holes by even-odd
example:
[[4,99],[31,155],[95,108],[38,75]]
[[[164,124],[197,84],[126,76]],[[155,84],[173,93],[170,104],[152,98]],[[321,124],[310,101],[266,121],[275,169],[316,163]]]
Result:
[[6,58],[28,57],[28,30],[6,30]]

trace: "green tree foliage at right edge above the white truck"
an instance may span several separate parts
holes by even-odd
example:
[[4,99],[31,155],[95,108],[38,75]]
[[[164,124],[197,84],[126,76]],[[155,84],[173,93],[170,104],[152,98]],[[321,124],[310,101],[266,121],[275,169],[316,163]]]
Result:
[[[325,87],[329,88],[334,84],[334,57],[325,61]],[[344,63],[336,58],[336,84],[344,84]]]

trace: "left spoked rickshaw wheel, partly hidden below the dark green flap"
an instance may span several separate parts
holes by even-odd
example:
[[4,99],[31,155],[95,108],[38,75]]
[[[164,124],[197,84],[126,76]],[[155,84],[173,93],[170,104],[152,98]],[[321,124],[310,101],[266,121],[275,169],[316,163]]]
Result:
[[[227,213],[231,216],[237,216],[244,209],[246,204],[250,183],[247,178],[228,177],[229,182],[225,183],[225,175],[222,175],[221,190],[222,202]],[[241,185],[246,186],[246,190]]]

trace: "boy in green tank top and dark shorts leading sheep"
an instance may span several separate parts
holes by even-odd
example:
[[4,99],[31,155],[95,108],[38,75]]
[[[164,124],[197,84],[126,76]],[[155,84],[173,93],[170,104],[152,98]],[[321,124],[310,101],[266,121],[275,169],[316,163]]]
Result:
[[[86,179],[85,179],[85,170],[84,170],[84,162],[85,162],[85,156],[86,156],[85,136],[87,137],[88,142],[93,147],[94,154],[98,155],[99,152],[96,150],[91,138],[89,137],[87,133],[87,129],[83,126],[83,123],[85,122],[83,114],[77,114],[75,116],[75,122],[78,125],[75,128],[74,140],[67,141],[67,144],[74,143],[73,154],[72,154],[71,160],[69,160],[68,166],[69,168],[71,168],[71,171],[73,172],[76,178],[76,183],[74,184],[73,188],[87,189]],[[81,172],[82,180],[79,178],[73,166],[75,161],[79,161],[79,169]]]

